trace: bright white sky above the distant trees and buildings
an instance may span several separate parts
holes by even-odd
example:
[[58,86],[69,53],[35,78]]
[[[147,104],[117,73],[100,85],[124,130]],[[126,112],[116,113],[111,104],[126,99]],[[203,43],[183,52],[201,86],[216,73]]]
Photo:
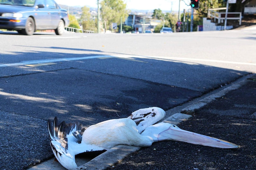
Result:
[[[68,6],[87,6],[97,7],[97,0],[55,0],[58,4]],[[101,1],[101,0],[99,0]],[[190,4],[190,0],[184,0],[187,4]],[[184,1],[181,1],[180,9],[188,9]],[[154,10],[161,9],[162,11],[178,11],[179,0],[124,0],[127,4],[127,9],[141,9],[141,10]]]

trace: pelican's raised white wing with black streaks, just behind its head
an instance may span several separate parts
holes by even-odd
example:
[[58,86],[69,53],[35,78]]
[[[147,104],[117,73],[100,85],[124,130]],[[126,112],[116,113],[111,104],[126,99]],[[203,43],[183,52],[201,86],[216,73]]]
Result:
[[139,109],[127,118],[132,119],[137,124],[138,132],[143,132],[148,126],[159,122],[165,117],[165,111],[159,107]]

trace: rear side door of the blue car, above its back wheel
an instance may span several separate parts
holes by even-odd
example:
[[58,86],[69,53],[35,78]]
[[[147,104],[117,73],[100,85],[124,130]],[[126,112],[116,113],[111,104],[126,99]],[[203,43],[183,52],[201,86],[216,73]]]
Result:
[[59,6],[53,0],[46,0],[46,6],[51,15],[50,27],[51,29],[56,29],[58,27],[59,20],[61,19]]

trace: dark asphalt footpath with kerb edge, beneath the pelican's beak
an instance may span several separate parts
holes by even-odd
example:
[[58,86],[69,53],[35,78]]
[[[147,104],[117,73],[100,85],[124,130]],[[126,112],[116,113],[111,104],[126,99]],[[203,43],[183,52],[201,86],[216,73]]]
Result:
[[[178,127],[240,145],[240,149],[211,148],[165,141],[151,147],[119,145],[78,169],[115,170],[255,170],[256,75],[184,108]],[[192,114],[191,118],[188,117]],[[169,118],[169,122],[174,119]],[[177,124],[177,122],[173,123]],[[133,152],[133,153],[132,153]],[[124,158],[125,157],[125,158]]]

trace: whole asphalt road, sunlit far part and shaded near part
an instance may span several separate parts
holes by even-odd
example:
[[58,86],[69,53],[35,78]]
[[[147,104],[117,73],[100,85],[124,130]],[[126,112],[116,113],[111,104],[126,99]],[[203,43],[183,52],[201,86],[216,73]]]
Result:
[[255,73],[255,33],[0,32],[0,169],[52,157],[46,122],[54,116],[88,127],[140,108],[167,110]]

